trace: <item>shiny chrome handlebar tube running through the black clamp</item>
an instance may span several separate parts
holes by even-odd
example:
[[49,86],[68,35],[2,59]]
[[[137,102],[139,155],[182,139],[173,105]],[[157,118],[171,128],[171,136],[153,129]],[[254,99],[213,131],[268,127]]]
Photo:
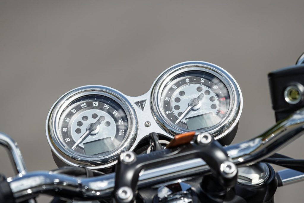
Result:
[[[301,109],[285,120],[278,122],[256,138],[230,145],[224,149],[237,166],[249,166],[271,156],[303,134],[304,109]],[[4,134],[0,135],[0,139],[7,136]],[[0,142],[3,143],[3,141]],[[9,146],[11,144],[7,143]],[[16,144],[14,145],[17,146]],[[15,149],[19,150],[18,147],[11,147],[11,149],[11,151]],[[19,158],[18,156],[17,158],[13,156],[14,159],[16,158],[14,160],[16,167],[22,169],[23,166],[24,171],[26,171],[20,152],[13,152],[13,154],[20,155]],[[174,181],[181,177],[186,179],[197,174],[205,175],[207,173],[210,173],[210,170],[205,161],[199,158],[190,159],[142,171],[139,177],[138,188],[151,187],[164,181]],[[76,178],[40,171],[19,174],[18,176],[8,178],[7,181],[17,202],[29,199],[34,194],[41,192],[88,201],[111,197],[114,190],[115,173],[93,178]]]

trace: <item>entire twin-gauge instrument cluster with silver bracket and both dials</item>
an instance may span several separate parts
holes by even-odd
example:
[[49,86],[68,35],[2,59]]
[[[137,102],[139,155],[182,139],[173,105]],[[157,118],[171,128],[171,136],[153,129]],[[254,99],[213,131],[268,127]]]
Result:
[[47,139],[58,166],[108,168],[150,132],[167,140],[208,132],[223,145],[233,140],[242,111],[237,82],[203,61],[164,71],[138,97],[106,86],[83,86],[61,96],[47,117]]

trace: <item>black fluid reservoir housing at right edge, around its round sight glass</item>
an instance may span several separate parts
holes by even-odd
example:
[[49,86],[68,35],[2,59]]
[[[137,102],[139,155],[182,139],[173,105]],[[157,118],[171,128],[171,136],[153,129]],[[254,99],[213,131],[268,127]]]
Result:
[[276,121],[282,120],[304,107],[304,93],[296,104],[285,100],[284,91],[288,86],[304,86],[304,65],[295,65],[268,73],[268,82],[272,108],[275,110]]

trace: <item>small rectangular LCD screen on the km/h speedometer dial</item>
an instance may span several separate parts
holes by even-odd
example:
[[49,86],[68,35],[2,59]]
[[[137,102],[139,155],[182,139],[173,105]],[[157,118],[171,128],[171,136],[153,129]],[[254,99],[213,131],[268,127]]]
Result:
[[95,155],[102,152],[108,152],[114,149],[112,139],[110,137],[83,143],[86,155]]

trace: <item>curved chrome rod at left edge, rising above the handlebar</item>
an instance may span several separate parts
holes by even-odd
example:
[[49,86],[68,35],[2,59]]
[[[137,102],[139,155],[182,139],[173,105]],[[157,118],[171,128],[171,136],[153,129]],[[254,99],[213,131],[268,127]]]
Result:
[[19,176],[26,174],[24,159],[17,143],[10,136],[0,132],[0,144],[9,150],[9,156],[15,166],[16,173],[19,173]]

